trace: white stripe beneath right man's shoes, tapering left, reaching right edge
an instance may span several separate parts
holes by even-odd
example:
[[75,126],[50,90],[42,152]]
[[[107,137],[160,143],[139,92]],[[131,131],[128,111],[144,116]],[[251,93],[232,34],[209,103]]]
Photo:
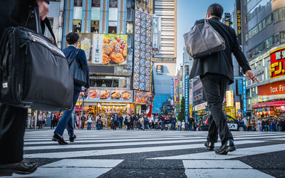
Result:
[[279,152],[285,150],[285,144],[269,145],[261,147],[247,147],[228,152],[227,155],[217,155],[214,152],[199,152],[195,154],[178,155],[172,157],[156,157],[152,159],[232,159],[236,157],[247,157],[269,152]]

